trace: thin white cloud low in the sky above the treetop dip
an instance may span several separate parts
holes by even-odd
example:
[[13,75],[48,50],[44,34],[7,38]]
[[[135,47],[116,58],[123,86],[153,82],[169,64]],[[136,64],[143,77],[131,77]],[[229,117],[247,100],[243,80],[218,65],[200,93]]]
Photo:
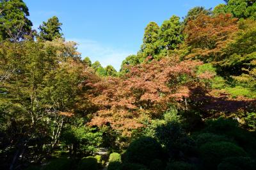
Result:
[[68,41],[77,42],[78,51],[81,52],[82,58],[88,56],[92,62],[100,61],[102,66],[112,65],[116,70],[120,69],[122,61],[135,51],[118,49],[110,45],[102,44],[93,40],[68,39]]

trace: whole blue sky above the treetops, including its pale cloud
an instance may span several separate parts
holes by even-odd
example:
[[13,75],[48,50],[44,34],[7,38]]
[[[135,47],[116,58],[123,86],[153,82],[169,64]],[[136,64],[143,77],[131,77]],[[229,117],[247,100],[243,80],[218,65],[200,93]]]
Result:
[[194,6],[213,8],[222,0],[24,0],[37,28],[53,15],[63,23],[66,40],[79,43],[81,57],[120,68],[136,54],[148,22],[159,26],[172,15],[184,17]]

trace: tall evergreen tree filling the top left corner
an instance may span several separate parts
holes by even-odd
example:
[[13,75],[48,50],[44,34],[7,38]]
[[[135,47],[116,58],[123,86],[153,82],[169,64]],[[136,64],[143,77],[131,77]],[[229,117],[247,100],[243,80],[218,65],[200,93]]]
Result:
[[12,42],[31,34],[29,10],[22,0],[0,0],[0,40]]

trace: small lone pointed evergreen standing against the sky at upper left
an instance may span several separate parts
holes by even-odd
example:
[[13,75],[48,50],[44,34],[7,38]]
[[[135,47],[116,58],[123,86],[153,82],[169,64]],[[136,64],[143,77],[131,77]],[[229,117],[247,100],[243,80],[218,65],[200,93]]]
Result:
[[58,17],[51,17],[51,19],[48,19],[47,22],[43,22],[43,24],[39,26],[40,38],[47,41],[61,38],[63,36],[63,34],[60,33],[61,26],[62,23],[59,21]]

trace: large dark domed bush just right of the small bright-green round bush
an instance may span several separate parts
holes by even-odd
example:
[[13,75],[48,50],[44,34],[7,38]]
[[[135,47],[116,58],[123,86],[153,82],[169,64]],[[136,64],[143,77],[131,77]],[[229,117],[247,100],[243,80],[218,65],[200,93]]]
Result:
[[152,137],[141,137],[132,142],[125,152],[124,161],[149,166],[152,160],[163,157],[161,145]]

